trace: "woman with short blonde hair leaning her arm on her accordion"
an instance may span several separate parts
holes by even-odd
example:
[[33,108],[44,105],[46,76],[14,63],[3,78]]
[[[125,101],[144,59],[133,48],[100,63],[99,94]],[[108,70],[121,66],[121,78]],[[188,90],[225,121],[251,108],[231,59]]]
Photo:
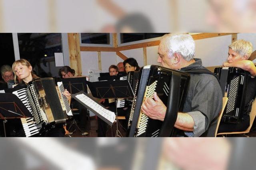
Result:
[[237,40],[229,45],[227,62],[223,63],[224,67],[238,67],[250,72],[252,75],[248,80],[247,93],[244,106],[244,115],[241,123],[220,123],[218,132],[238,132],[244,131],[250,126],[251,103],[256,95],[256,67],[248,58],[252,54],[252,43],[245,40]]

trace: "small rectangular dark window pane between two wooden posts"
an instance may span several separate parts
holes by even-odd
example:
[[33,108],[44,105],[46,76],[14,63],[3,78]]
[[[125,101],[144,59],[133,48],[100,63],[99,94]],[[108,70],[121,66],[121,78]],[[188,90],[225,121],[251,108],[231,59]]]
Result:
[[110,44],[109,33],[81,33],[82,43]]

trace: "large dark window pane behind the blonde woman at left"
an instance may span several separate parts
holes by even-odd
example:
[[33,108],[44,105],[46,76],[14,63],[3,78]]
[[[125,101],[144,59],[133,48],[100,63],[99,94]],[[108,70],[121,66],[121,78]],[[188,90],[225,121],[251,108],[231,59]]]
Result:
[[54,53],[62,53],[60,33],[19,33],[20,58],[27,59],[39,77],[58,76]]

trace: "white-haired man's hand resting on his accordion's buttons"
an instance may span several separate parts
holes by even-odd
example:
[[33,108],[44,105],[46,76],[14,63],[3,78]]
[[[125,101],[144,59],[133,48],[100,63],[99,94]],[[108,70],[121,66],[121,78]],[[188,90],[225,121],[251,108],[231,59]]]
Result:
[[157,96],[156,92],[154,93],[153,97],[154,99],[146,98],[145,101],[142,103],[141,109],[143,113],[151,119],[164,121],[166,106]]

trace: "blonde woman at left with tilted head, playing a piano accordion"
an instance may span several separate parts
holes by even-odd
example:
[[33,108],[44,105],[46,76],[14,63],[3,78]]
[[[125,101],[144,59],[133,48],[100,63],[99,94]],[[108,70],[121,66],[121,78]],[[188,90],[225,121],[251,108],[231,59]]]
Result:
[[[18,89],[22,89],[22,88],[26,88],[26,85],[32,81],[33,79],[37,79],[39,78],[37,75],[35,75],[34,73],[32,73],[32,66],[31,64],[26,60],[26,59],[20,59],[15,61],[12,64],[12,70],[14,71],[15,75],[14,75],[14,80],[16,80],[16,76],[19,77],[19,79],[21,79],[22,81],[16,85],[14,87],[14,91],[18,90]],[[70,93],[65,90],[63,93],[68,100],[70,101]],[[18,121],[20,123],[20,120]],[[25,136],[24,132],[22,134],[22,125],[20,123],[20,125],[17,125],[17,127],[20,127],[18,129],[16,129],[16,135],[15,136]],[[50,129],[48,132],[42,134],[42,136],[44,137],[62,137],[64,136],[65,131],[62,125],[60,126],[56,126],[55,128]]]

